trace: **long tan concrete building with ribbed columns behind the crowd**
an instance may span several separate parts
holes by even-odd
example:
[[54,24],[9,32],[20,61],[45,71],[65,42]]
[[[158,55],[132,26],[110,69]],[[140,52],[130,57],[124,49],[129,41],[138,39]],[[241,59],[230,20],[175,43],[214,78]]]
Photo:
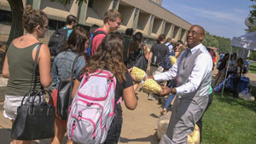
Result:
[[[46,35],[50,36],[55,29],[64,25],[68,14],[74,14],[79,18],[81,26],[91,26],[97,24],[103,25],[102,17],[108,9],[118,9],[123,16],[123,21],[119,32],[125,32],[126,28],[133,28],[135,32],[142,32],[145,41],[154,43],[160,34],[166,37],[172,37],[175,42],[182,40],[185,42],[186,35],[191,24],[186,20],[178,17],[176,14],[167,9],[162,8],[159,4],[161,0],[87,0],[87,3],[78,5],[76,0],[72,0],[70,4],[64,6],[57,0],[23,0],[24,6],[31,4],[33,9],[43,9],[49,16],[49,26],[52,31]],[[9,3],[7,0],[0,0],[1,13],[9,12]],[[0,13],[0,14],[1,14]],[[0,30],[0,35],[9,32],[10,25],[0,25],[6,28]]]

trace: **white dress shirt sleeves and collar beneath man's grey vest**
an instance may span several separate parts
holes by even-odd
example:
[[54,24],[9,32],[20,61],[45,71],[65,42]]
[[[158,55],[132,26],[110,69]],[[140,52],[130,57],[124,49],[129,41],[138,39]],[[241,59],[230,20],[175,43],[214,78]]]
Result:
[[[189,76],[189,81],[176,88],[177,95],[186,95],[194,92],[198,89],[202,80],[206,78],[207,73],[212,72],[212,56],[202,44],[198,44],[191,49],[191,55],[193,55],[197,49],[201,49],[202,53],[195,59],[193,70]],[[181,56],[177,58],[177,63],[174,64],[169,71],[154,75],[154,80],[166,81],[175,78],[177,76],[177,65],[179,65],[180,59]]]

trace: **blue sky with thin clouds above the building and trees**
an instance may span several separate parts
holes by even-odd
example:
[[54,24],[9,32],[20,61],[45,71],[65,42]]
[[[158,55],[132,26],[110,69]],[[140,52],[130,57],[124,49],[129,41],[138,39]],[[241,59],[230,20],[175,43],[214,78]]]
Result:
[[252,4],[250,0],[163,0],[162,7],[213,35],[232,38],[245,33]]

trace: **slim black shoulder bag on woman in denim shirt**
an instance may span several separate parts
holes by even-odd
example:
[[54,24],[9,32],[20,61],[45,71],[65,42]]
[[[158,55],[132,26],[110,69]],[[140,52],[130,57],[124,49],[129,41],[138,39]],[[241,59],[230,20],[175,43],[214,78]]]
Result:
[[69,79],[60,78],[60,84],[57,92],[56,111],[57,111],[57,115],[62,120],[67,120],[68,107],[71,105],[71,102],[72,102],[71,95],[72,95],[72,89],[73,89],[73,72],[74,72],[75,64],[78,58],[79,58],[79,55],[76,56],[75,60],[73,61],[72,72],[70,74],[71,78]]

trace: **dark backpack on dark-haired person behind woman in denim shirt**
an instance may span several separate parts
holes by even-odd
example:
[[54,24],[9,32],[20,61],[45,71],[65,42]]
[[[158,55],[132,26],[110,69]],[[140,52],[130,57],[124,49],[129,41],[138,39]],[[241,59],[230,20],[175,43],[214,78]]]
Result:
[[71,28],[64,29],[63,27],[55,31],[49,38],[49,52],[50,55],[55,56],[61,52],[63,44],[67,41],[67,32],[72,30]]

